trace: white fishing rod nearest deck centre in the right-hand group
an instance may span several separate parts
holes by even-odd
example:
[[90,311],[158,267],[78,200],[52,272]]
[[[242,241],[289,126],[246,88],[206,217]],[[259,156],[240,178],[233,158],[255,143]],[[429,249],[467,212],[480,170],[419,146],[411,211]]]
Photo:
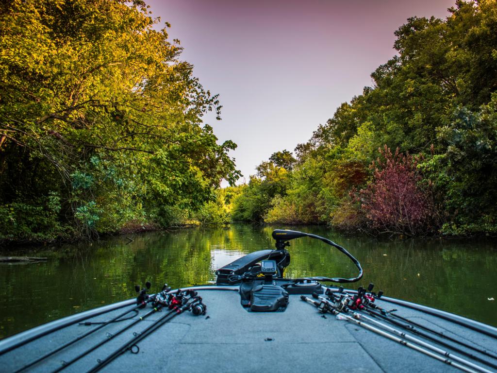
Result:
[[[387,332],[385,332],[385,331],[383,331],[381,329],[378,329],[378,328],[376,328],[376,327],[374,327],[372,325],[369,325],[369,324],[366,324],[366,323],[364,323],[364,322],[362,322],[360,320],[357,320],[357,319],[355,319],[355,318],[353,318],[353,317],[351,317],[349,315],[345,315],[345,314],[343,314],[342,312],[340,312],[336,308],[328,307],[326,305],[323,306],[322,304],[324,302],[322,302],[322,301],[316,301],[316,300],[314,300],[312,298],[309,298],[309,297],[307,297],[305,295],[301,295],[300,298],[302,300],[304,300],[304,301],[306,301],[306,302],[314,305],[315,307],[317,307],[320,310],[320,312],[323,312],[323,313],[330,312],[331,314],[335,315],[338,320],[347,320],[347,321],[350,321],[352,323],[355,323],[355,324],[357,324],[357,325],[359,325],[359,326],[361,326],[361,327],[363,327],[365,329],[368,329],[368,330],[370,330],[370,331],[372,331],[372,332],[374,332],[376,334],[379,334],[379,335],[381,335],[383,337],[386,337],[386,338],[388,338],[388,339],[390,339],[392,341],[398,342],[401,345],[409,347],[409,348],[411,348],[413,350],[416,350],[416,351],[418,351],[418,352],[420,352],[422,354],[425,354],[425,355],[427,355],[427,356],[429,356],[429,357],[431,357],[433,359],[441,361],[442,363],[445,363],[447,365],[453,366],[454,368],[458,368],[458,369],[460,369],[460,370],[462,370],[464,372],[477,373],[477,371],[474,371],[474,370],[468,368],[467,366],[464,366],[464,365],[461,365],[459,363],[453,362],[453,361],[451,361],[451,360],[449,360],[447,358],[444,358],[444,357],[442,357],[440,355],[434,354],[431,351],[428,351],[428,350],[426,350],[426,349],[424,349],[422,347],[419,347],[418,345],[416,345],[414,343],[408,342],[405,339],[396,337],[396,336],[394,336],[392,334],[389,334],[389,333],[387,333]],[[324,310],[324,311],[322,311],[322,310]],[[483,372],[483,371],[480,371],[480,372]],[[490,371],[487,371],[487,372],[490,372]]]

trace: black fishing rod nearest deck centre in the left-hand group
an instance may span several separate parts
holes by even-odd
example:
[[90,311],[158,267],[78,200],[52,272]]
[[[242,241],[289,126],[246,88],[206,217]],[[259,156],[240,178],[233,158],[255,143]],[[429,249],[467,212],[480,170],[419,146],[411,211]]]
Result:
[[117,359],[120,355],[124,354],[126,351],[131,351],[131,353],[133,354],[138,354],[140,352],[140,348],[137,346],[137,343],[139,343],[147,336],[155,332],[157,329],[159,329],[161,326],[169,322],[175,316],[187,310],[191,310],[195,316],[204,315],[206,308],[207,307],[205,306],[205,304],[202,303],[202,298],[197,295],[196,291],[193,291],[190,294],[190,298],[187,300],[185,304],[181,306],[178,305],[173,306],[171,311],[166,313],[160,319],[156,320],[152,325],[147,327],[141,333],[137,334],[130,341],[126,342],[124,345],[119,347],[112,354],[107,356],[104,360],[98,360],[98,364],[95,365],[93,368],[91,368],[87,373],[98,372],[99,370],[110,364],[112,361]]

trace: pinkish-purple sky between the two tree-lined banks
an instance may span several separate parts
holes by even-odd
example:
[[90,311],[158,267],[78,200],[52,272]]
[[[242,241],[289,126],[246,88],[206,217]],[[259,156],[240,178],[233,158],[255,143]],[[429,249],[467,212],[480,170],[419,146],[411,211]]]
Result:
[[[372,86],[412,16],[445,18],[455,0],[146,0],[180,59],[219,94],[222,120],[204,122],[248,182],[272,153],[293,152],[336,108]],[[159,27],[162,28],[163,26]],[[227,183],[223,182],[223,186]]]

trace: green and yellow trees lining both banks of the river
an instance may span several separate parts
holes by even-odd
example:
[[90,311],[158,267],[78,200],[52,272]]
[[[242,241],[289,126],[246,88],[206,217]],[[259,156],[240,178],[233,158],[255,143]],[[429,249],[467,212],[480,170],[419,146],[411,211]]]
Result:
[[224,189],[217,96],[157,22],[140,0],[0,4],[0,244],[231,220],[497,235],[495,0],[408,19],[373,87]]

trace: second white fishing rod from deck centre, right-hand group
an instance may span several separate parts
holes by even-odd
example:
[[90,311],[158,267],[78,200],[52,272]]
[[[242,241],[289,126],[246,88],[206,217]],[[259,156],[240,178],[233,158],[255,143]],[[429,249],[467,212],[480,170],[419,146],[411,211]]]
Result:
[[[325,303],[326,304],[326,310],[329,310],[330,308],[333,309],[333,308],[336,308],[335,307],[335,304],[341,304],[340,301],[338,299],[334,299],[337,303],[332,303],[329,299],[326,299],[322,296],[319,296],[318,294],[314,293],[313,294],[313,297],[316,298],[316,299],[319,299],[321,302]],[[413,343],[417,343],[418,345],[424,347],[424,348],[427,348],[431,351],[434,351],[438,354],[441,354],[447,358],[450,358],[454,361],[457,361],[461,364],[466,364],[467,366],[473,368],[473,369],[476,369],[477,371],[481,372],[481,373],[492,373],[491,371],[489,371],[488,369],[485,369],[483,367],[480,367],[476,364],[473,364],[472,362],[466,360],[466,359],[463,359],[457,355],[454,355],[448,351],[445,351],[445,350],[442,350],[436,346],[433,346],[427,342],[424,342],[418,338],[415,338],[409,334],[406,334],[398,329],[395,329],[395,328],[392,328],[391,326],[388,326],[386,325],[385,323],[382,323],[382,322],[379,322],[378,320],[375,320],[374,318],[372,317],[368,317],[366,315],[362,315],[362,314],[359,314],[358,312],[353,312],[350,308],[348,307],[342,307],[343,310],[345,312],[351,312],[352,313],[352,316],[355,318],[355,319],[364,319],[364,320],[367,320],[377,326],[379,326],[380,328],[383,328],[383,329],[386,329],[394,334],[397,334],[399,336],[401,336],[402,338],[404,339],[407,339],[407,340],[410,340],[411,342]]]

